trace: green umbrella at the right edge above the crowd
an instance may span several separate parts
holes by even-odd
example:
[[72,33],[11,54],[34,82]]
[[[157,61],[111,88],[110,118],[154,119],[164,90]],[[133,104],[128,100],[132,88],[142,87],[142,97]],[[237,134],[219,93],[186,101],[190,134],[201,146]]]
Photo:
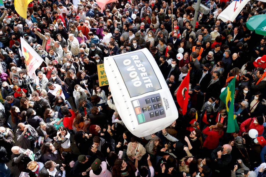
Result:
[[246,26],[250,31],[266,36],[266,14],[252,16]]

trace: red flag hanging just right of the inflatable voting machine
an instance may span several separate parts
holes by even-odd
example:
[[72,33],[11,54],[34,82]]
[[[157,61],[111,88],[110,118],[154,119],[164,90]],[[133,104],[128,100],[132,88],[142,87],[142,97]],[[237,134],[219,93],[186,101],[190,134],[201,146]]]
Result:
[[177,93],[176,93],[176,99],[177,102],[182,109],[182,114],[185,115],[187,112],[187,104],[188,104],[188,88],[189,88],[189,73],[188,71],[185,79],[181,82]]

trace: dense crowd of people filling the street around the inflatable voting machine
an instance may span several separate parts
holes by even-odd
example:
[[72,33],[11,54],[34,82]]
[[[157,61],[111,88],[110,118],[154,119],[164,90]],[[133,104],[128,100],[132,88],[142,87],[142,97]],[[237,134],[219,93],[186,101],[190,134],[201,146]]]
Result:
[[[0,176],[19,176],[14,168],[30,177],[266,176],[266,39],[246,26],[265,14],[266,3],[251,0],[224,22],[219,14],[229,0],[201,1],[210,10],[197,19],[193,2],[120,0],[101,10],[94,0],[33,0],[23,19],[13,0],[4,1]],[[28,75],[21,38],[43,58],[39,82]],[[97,65],[143,48],[158,64],[179,116],[138,138],[119,116],[116,95],[99,86]],[[182,115],[176,93],[188,71]],[[240,130],[227,133],[232,117],[219,96],[234,77]],[[255,139],[251,129],[258,131]]]

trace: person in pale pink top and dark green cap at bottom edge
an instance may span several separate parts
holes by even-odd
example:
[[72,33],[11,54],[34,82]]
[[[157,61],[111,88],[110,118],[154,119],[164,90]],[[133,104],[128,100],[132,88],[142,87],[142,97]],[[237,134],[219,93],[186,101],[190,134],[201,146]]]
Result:
[[90,177],[112,177],[112,173],[107,169],[107,163],[96,158],[91,165]]

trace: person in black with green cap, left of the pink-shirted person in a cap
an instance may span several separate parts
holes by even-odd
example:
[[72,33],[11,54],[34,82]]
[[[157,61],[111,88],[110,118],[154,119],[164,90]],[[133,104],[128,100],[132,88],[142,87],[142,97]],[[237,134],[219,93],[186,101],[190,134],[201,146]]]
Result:
[[73,175],[77,177],[89,176],[86,170],[92,165],[94,158],[90,155],[79,155],[73,167]]

